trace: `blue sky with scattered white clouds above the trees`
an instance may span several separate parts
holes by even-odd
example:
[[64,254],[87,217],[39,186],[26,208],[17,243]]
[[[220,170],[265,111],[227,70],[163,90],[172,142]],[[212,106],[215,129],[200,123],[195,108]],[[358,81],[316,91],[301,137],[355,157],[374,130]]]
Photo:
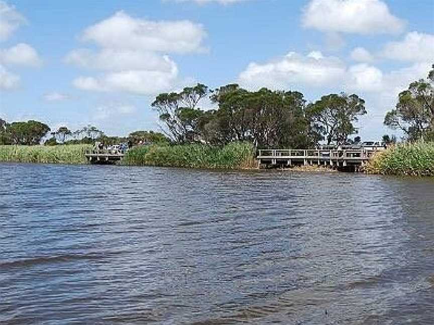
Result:
[[355,93],[373,140],[432,64],[433,0],[0,0],[0,117],[52,129],[158,130],[157,94],[238,83]]

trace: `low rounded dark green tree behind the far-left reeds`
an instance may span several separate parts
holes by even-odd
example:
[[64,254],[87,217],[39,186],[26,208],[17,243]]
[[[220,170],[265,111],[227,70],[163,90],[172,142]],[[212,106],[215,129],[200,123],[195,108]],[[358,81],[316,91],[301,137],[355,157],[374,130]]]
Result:
[[7,132],[12,144],[39,144],[42,138],[50,131],[47,124],[29,120],[27,122],[13,122]]

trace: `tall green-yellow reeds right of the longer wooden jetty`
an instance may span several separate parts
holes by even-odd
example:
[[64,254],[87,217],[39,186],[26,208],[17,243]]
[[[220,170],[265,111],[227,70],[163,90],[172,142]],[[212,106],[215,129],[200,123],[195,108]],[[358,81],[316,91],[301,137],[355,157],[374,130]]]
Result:
[[434,142],[390,147],[377,153],[366,171],[382,175],[434,176]]

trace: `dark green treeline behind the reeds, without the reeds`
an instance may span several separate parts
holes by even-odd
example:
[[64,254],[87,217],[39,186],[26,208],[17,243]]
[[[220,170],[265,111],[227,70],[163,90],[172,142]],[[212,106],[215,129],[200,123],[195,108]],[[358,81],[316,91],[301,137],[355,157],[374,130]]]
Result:
[[[215,109],[200,108],[206,97]],[[159,113],[164,134],[136,131],[128,137],[109,137],[91,125],[76,131],[63,126],[51,132],[48,125],[38,121],[8,123],[0,119],[0,144],[32,145],[47,139],[46,144],[98,140],[107,144],[130,141],[222,146],[248,141],[256,148],[311,148],[320,141],[360,141],[358,136],[353,138],[358,133],[355,124],[367,113],[365,101],[356,94],[329,94],[308,103],[298,91],[249,91],[236,84],[214,90],[197,84],[180,92],[159,94],[151,105]],[[426,79],[412,82],[399,94],[384,124],[400,129],[409,141],[434,140],[434,65]],[[383,139],[393,140],[388,135]]]

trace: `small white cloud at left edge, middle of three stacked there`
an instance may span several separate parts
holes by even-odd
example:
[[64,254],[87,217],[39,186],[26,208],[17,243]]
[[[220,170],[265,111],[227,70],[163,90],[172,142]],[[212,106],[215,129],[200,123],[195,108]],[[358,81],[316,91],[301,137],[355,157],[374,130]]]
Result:
[[17,44],[9,49],[0,49],[0,62],[31,67],[38,67],[42,64],[36,50],[25,43]]

